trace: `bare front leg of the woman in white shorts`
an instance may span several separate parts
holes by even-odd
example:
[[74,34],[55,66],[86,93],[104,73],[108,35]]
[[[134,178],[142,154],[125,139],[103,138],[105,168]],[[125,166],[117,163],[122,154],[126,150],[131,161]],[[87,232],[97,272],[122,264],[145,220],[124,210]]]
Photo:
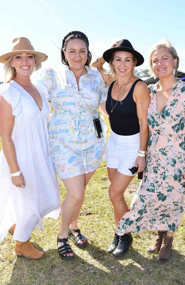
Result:
[[[111,179],[109,187],[109,198],[113,205],[115,225],[118,226],[123,215],[128,212],[128,205],[125,201],[124,192],[134,176],[124,175],[117,170],[108,168],[108,175]],[[114,175],[113,175],[114,174]]]

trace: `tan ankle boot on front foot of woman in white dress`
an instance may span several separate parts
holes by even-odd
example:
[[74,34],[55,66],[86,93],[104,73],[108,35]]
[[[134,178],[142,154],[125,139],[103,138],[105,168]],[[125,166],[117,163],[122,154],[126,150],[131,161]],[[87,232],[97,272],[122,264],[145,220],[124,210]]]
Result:
[[46,257],[46,253],[43,253],[32,246],[30,243],[30,238],[25,242],[17,241],[15,245],[15,253],[19,256],[23,255],[30,259],[40,259]]

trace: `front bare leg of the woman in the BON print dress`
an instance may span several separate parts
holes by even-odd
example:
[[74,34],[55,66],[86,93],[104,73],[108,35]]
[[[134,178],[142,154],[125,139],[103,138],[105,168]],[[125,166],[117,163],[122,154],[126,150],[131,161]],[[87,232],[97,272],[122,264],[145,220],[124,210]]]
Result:
[[[74,219],[74,216],[79,212],[84,199],[84,175],[62,179],[67,196],[61,205],[61,228],[59,230],[59,238],[67,238],[69,225]],[[63,243],[58,243],[58,247]],[[69,254],[67,254],[69,256]],[[70,255],[73,255],[70,253]]]

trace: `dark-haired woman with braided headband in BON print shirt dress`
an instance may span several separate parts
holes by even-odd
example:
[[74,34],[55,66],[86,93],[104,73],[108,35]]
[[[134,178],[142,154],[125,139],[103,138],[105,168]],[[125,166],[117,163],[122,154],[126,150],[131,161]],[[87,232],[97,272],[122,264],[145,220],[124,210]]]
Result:
[[97,69],[89,68],[89,41],[82,32],[69,32],[63,38],[61,60],[65,67],[41,71],[36,80],[47,87],[54,109],[48,126],[50,154],[67,189],[57,246],[60,257],[69,260],[73,252],[67,236],[78,247],[87,245],[77,220],[85,188],[105,155],[106,124],[100,118],[104,137],[99,139],[93,117],[99,117],[98,107],[107,115],[107,86]]

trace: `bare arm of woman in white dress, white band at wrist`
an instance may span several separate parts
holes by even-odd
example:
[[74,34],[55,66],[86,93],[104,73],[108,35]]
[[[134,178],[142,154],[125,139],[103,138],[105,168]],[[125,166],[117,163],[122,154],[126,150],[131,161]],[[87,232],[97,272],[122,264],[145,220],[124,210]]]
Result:
[[[5,158],[10,168],[10,173],[19,171],[17,162],[17,156],[15,146],[11,139],[15,116],[12,115],[12,107],[7,101],[0,95],[0,135],[1,143]],[[22,173],[19,176],[13,176],[12,183],[17,187],[25,185],[24,177]]]

